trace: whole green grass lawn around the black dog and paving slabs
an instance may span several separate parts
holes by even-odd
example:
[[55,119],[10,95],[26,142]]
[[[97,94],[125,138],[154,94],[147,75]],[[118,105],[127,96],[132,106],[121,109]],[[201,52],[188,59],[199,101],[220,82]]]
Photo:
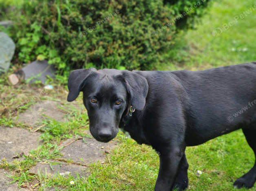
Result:
[[[243,14],[254,6],[253,0],[222,0],[214,2],[207,15],[204,15],[201,25],[196,30],[189,30],[177,39],[179,46],[166,52],[164,56],[170,59],[170,63],[163,63],[157,69],[207,69],[224,65],[256,61],[256,9],[243,19],[234,21],[235,16]],[[220,35],[213,35],[216,28],[223,28],[223,24],[233,22],[234,25],[223,31]],[[218,31],[217,29],[216,31]],[[222,29],[224,30],[224,29]],[[238,79],[239,80],[239,79]],[[66,87],[55,84],[55,89],[47,93],[49,97],[66,103]],[[24,111],[31,104],[38,102],[44,97],[38,96],[32,102],[23,103],[23,99],[16,95],[33,95],[41,85],[21,85],[18,89],[7,85],[6,77],[0,78],[0,92],[4,92],[8,99],[0,100],[0,106],[9,110],[19,107],[17,113]],[[78,102],[82,104],[82,96],[79,95]],[[90,165],[92,174],[85,178],[55,176],[53,178],[31,175],[28,169],[38,161],[47,161],[57,157],[57,145],[62,139],[71,135],[79,135],[80,126],[86,123],[86,113],[72,113],[70,121],[66,123],[44,122],[47,124],[42,128],[42,139],[44,144],[22,162],[9,164],[3,162],[0,167],[9,169],[13,173],[13,180],[17,180],[21,186],[30,184],[36,190],[47,190],[55,187],[68,191],[151,191],[157,179],[159,168],[159,157],[152,148],[146,145],[138,145],[132,139],[128,139],[122,132],[115,138],[119,145],[113,154],[108,155],[109,160],[104,164],[95,163]],[[0,125],[19,126],[27,128],[22,124],[15,124],[11,115],[5,113],[0,117]],[[62,130],[60,130],[62,127]],[[50,132],[54,128],[55,136]],[[190,167],[188,169],[190,191],[221,191],[236,190],[233,182],[245,174],[254,165],[254,154],[249,148],[243,132],[238,130],[228,135],[223,135],[203,145],[189,147],[186,156]],[[196,171],[201,170],[200,176]],[[71,185],[73,180],[75,184]],[[246,189],[241,189],[241,191]],[[256,190],[254,186],[251,190]]]

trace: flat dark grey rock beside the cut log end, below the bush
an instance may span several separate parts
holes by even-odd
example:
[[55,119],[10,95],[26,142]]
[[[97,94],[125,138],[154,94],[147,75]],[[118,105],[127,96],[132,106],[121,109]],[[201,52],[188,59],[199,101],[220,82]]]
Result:
[[51,78],[55,78],[56,69],[53,65],[49,65],[47,61],[34,61],[21,70],[16,72],[19,76],[22,76],[24,80],[29,81],[29,83],[33,83],[36,80],[40,80],[42,83],[45,83],[46,76],[50,76]]

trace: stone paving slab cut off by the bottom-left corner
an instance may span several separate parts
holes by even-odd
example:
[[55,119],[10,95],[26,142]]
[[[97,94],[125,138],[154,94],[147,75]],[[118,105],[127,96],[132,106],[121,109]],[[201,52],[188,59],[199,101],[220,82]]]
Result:
[[0,191],[29,191],[29,189],[19,189],[16,183],[10,184],[13,180],[8,178],[9,172],[4,169],[0,169]]

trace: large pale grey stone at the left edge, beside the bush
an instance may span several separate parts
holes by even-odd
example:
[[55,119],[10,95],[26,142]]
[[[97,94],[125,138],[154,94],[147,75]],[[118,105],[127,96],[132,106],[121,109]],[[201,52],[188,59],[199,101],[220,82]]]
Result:
[[6,33],[0,32],[0,74],[9,69],[14,50],[13,40]]

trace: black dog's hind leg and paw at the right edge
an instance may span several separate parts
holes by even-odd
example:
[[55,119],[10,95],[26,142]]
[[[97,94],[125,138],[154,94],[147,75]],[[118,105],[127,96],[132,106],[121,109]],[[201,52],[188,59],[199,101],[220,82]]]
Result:
[[[249,146],[254,151],[254,155],[256,157],[256,124],[254,126],[251,126],[250,128],[243,129],[243,133],[245,135],[245,138],[249,144]],[[238,178],[234,182],[234,186],[237,188],[245,187],[247,189],[254,186],[254,182],[256,181],[256,161],[254,163],[254,166],[252,169],[250,169],[245,175]]]

